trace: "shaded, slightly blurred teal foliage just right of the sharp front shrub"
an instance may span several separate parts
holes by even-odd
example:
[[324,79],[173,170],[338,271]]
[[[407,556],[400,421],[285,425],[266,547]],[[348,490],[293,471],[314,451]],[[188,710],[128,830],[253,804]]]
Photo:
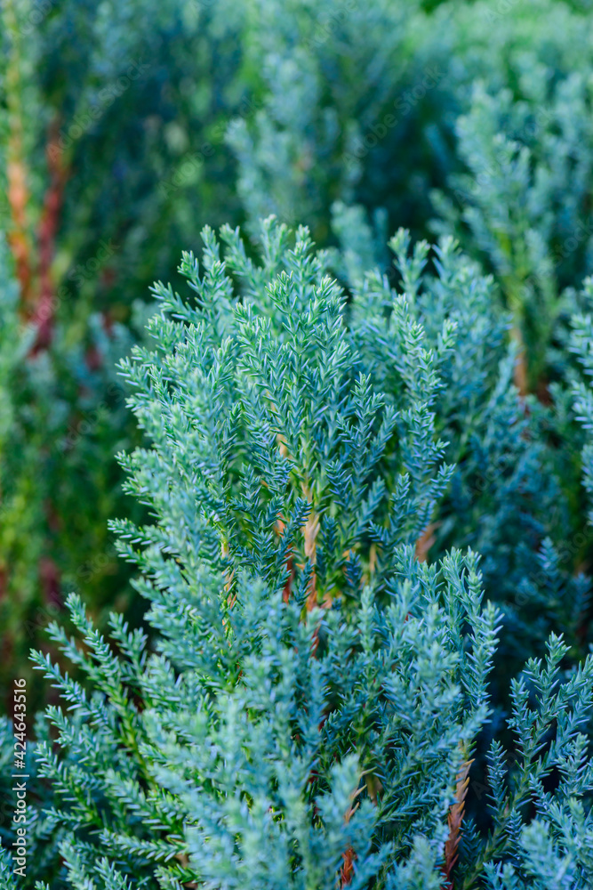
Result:
[[[346,265],[358,269],[365,262],[355,231],[367,246],[373,238],[359,216],[349,220],[340,208],[337,213],[342,273],[348,276]],[[434,276],[425,242],[411,251],[409,236],[398,231],[390,246],[405,288],[399,304],[403,299],[405,313],[421,325],[437,357],[435,428],[453,465],[451,484],[432,517],[427,550],[434,558],[452,546],[482,554],[487,593],[504,611],[502,645],[511,673],[523,663],[525,641],[530,651],[541,653],[552,630],[562,631],[575,651],[582,651],[583,631],[590,636],[584,627],[589,580],[573,577],[573,568],[588,552],[590,536],[570,524],[571,503],[581,486],[580,463],[577,472],[572,466],[572,450],[581,447],[573,418],[561,429],[557,409],[519,395],[509,314],[501,311],[493,278],[461,255],[450,237],[434,252]],[[369,271],[350,276],[349,284],[349,312],[365,332],[361,337],[353,330],[365,370],[384,392],[395,394],[403,313],[397,301],[394,305],[389,278]],[[418,399],[428,392],[421,367],[421,357],[414,357],[409,376]],[[557,392],[557,402],[565,398]]]

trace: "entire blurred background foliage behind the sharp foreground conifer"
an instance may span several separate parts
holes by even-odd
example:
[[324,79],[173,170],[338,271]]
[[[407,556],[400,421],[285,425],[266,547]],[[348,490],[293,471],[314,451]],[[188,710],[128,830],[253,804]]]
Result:
[[[397,274],[384,245],[399,226],[453,235],[492,274],[477,312],[496,410],[450,456],[461,470],[426,554],[485,554],[517,646],[525,603],[552,601],[585,643],[587,607],[571,611],[591,553],[582,433],[559,384],[577,374],[568,319],[590,308],[592,12],[577,0],[2,0],[3,702],[71,590],[98,619],[114,605],[140,619],[107,526],[138,510],[114,459],[138,435],[115,362],[143,336],[151,283],[175,283],[204,223],[253,231],[271,213],[337,247],[350,290],[370,266]],[[508,336],[507,373],[530,406],[518,424],[496,395]],[[444,436],[467,405],[450,406]],[[494,549],[509,563],[489,575]]]

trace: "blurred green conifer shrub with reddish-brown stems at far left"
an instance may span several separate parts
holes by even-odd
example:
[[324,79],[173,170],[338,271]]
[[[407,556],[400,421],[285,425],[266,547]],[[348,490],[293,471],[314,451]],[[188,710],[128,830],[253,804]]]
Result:
[[237,214],[223,135],[257,98],[236,81],[236,16],[221,28],[220,12],[193,0],[0,9],[6,370],[21,344],[0,443],[3,713],[68,591],[84,587],[97,619],[106,604],[134,610],[107,529],[133,509],[114,453],[135,433],[114,367],[141,336],[149,283],[174,274],[196,204],[198,229]]

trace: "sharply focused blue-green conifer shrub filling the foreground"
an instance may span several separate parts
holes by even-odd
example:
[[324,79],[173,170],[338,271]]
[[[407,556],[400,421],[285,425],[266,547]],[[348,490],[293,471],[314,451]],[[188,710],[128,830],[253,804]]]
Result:
[[[35,655],[67,707],[36,729],[31,886],[585,890],[593,659],[550,608],[508,683],[501,653],[537,643],[513,640],[479,555],[443,538],[427,561],[476,472],[464,442],[521,404],[508,320],[478,312],[492,279],[450,240],[429,274],[399,231],[404,287],[372,271],[347,300],[304,228],[268,219],[259,258],[229,227],[203,240],[180,265],[192,299],[157,285],[154,345],[120,365],[147,439],[120,460],[153,522],[111,529],[152,641],[118,613],[101,635],[72,595],[76,633],[51,637],[86,680]],[[529,440],[540,419],[513,423]],[[547,447],[517,465],[541,472]],[[549,593],[567,611],[571,583]]]

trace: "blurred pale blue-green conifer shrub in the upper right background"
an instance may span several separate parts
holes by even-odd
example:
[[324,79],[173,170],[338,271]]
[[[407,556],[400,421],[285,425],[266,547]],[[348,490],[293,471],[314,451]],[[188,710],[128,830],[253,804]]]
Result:
[[545,392],[562,375],[563,292],[593,271],[589,9],[333,5],[317,28],[300,3],[261,34],[248,23],[267,90],[228,131],[248,216],[305,220],[325,240],[340,200],[453,234],[494,272],[526,344],[517,383]]

